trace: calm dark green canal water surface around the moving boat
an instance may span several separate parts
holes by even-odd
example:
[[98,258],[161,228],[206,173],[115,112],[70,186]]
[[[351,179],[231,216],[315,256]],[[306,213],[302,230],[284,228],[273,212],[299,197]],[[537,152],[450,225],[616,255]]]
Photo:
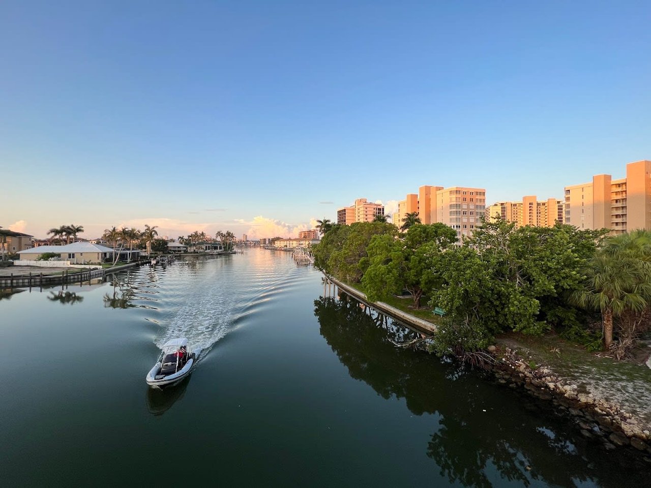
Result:
[[[251,249],[0,294],[0,483],[648,486],[646,463],[396,348],[408,331],[323,291],[288,254]],[[198,368],[148,389],[176,336],[204,348]]]

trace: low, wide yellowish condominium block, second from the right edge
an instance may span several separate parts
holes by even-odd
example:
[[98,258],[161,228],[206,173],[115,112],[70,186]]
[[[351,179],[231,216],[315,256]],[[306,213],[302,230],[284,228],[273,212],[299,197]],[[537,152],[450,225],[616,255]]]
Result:
[[535,195],[523,197],[521,202],[496,202],[486,208],[486,220],[495,221],[497,217],[513,222],[516,227],[533,225],[551,227],[564,220],[565,202],[556,198],[537,200]]

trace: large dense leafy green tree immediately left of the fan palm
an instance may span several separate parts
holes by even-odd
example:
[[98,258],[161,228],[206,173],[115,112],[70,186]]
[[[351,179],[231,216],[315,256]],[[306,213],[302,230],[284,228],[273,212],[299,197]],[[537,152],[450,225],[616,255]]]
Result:
[[[430,305],[447,312],[441,349],[482,347],[503,331],[539,334],[572,320],[570,294],[582,286],[582,268],[596,252],[602,231],[568,225],[483,223],[458,249],[439,259],[441,285]],[[565,313],[561,313],[562,311]]]

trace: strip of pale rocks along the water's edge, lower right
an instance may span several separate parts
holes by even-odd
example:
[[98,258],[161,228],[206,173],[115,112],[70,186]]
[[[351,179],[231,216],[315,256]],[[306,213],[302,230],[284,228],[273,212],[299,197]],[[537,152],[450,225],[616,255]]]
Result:
[[641,416],[590,391],[583,383],[562,377],[550,366],[532,367],[510,347],[491,346],[489,352],[495,361],[488,369],[498,383],[551,401],[559,413],[574,418],[582,435],[603,442],[606,449],[628,447],[651,461],[651,426]]

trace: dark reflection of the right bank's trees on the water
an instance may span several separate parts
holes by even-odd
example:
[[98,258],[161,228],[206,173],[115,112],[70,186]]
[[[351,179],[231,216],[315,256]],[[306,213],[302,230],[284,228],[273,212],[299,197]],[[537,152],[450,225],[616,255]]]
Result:
[[[413,414],[436,415],[424,449],[450,483],[620,487],[617,472],[628,474],[630,486],[648,482],[644,461],[630,452],[607,454],[534,400],[434,356],[395,347],[392,340],[403,342],[414,332],[374,318],[357,301],[322,297],[314,301],[314,314],[351,377],[383,398],[404,398]],[[527,402],[535,414],[523,408]]]

